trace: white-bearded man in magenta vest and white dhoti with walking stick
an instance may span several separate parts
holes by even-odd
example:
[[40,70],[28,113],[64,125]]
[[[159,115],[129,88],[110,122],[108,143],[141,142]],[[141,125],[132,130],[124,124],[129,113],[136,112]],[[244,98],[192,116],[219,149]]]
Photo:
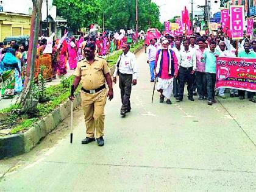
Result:
[[166,98],[166,104],[172,104],[171,94],[173,88],[173,77],[177,78],[178,60],[176,54],[168,49],[169,41],[162,42],[162,49],[157,51],[155,57],[155,76],[158,77],[157,90],[160,91],[160,102]]

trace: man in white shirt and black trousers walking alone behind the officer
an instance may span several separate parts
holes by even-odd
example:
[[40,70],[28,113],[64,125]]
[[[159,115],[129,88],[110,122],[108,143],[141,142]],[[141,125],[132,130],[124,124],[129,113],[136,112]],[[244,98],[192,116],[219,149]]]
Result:
[[113,74],[113,82],[116,83],[116,75],[119,75],[119,88],[121,90],[122,107],[120,114],[125,116],[132,109],[130,107],[130,93],[132,85],[137,84],[137,62],[135,54],[130,52],[130,44],[123,44],[123,53],[118,57]]

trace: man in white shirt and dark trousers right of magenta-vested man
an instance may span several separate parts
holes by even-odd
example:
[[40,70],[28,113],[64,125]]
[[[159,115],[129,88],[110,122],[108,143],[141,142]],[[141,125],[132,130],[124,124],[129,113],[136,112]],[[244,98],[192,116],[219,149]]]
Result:
[[183,101],[185,82],[188,83],[188,99],[193,99],[193,83],[195,79],[196,71],[196,54],[194,51],[189,49],[189,41],[183,41],[184,50],[180,52],[180,63],[179,63],[179,98],[176,98],[178,102]]

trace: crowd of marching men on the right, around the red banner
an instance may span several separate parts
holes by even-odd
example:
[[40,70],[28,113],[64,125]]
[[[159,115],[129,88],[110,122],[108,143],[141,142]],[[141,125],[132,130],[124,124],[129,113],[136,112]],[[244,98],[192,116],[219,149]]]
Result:
[[[169,60],[171,55],[172,60]],[[159,57],[160,56],[160,57]],[[170,96],[183,101],[184,85],[187,82],[188,99],[199,95],[199,100],[208,99],[208,104],[216,102],[215,96],[226,99],[226,88],[215,91],[217,57],[256,58],[256,41],[244,35],[238,43],[227,37],[222,28],[217,35],[193,34],[183,36],[166,33],[163,37],[152,38],[147,48],[147,62],[151,71],[151,82],[158,77],[160,102],[164,97],[171,104]],[[172,63],[172,64],[170,64]],[[160,70],[161,69],[161,70]],[[168,71],[172,69],[172,71]],[[172,78],[173,77],[173,78]],[[165,94],[162,94],[165,91]],[[245,91],[230,89],[229,96],[245,98]],[[247,91],[249,101],[256,102],[254,93]]]

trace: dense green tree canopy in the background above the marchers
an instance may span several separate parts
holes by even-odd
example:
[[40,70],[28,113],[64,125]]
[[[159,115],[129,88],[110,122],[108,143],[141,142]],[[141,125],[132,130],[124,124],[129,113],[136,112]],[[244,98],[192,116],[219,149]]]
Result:
[[[68,20],[73,31],[91,23],[102,26],[105,12],[105,29],[134,29],[135,0],[54,0],[57,13]],[[149,27],[163,29],[159,21],[159,7],[151,0],[138,1],[139,30]]]

